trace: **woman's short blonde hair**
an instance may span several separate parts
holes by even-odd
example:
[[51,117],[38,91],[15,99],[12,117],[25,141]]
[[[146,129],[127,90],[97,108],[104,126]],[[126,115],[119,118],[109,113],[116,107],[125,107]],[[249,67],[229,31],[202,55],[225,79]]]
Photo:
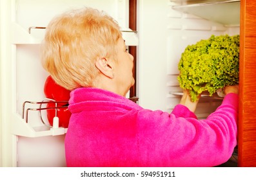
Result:
[[57,84],[68,90],[92,87],[97,58],[115,58],[122,37],[117,22],[104,12],[83,8],[65,12],[46,27],[41,60]]

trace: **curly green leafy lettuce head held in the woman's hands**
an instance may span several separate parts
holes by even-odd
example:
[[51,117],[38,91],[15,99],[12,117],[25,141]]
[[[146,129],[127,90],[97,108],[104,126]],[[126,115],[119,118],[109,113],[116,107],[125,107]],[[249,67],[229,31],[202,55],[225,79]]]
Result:
[[209,95],[239,83],[239,35],[212,35],[186,47],[178,65],[179,84],[193,102],[203,91]]

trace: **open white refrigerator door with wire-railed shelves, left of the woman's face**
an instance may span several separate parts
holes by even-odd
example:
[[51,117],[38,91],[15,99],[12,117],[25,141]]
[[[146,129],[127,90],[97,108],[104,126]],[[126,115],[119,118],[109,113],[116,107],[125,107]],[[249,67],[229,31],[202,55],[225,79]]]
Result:
[[[44,107],[37,103],[44,101],[43,87],[48,76],[41,66],[40,44],[44,28],[55,15],[85,6],[105,11],[130,31],[128,0],[1,0],[1,93],[5,95],[1,96],[1,125],[5,129],[1,132],[2,166],[66,166],[67,129],[51,130],[44,125],[45,111],[38,110]],[[131,34],[128,36],[131,38]],[[132,38],[129,43],[137,45]]]

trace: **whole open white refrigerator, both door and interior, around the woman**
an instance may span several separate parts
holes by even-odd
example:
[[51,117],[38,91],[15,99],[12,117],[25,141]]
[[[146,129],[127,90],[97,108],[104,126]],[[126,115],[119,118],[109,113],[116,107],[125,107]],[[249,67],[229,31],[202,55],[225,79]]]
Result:
[[[40,44],[48,22],[59,13],[90,6],[104,10],[121,26],[135,49],[135,96],[145,109],[172,112],[179,104],[178,63],[189,44],[211,35],[240,32],[240,1],[192,0],[1,0],[0,167],[66,167],[68,128],[45,125]],[[135,3],[136,29],[130,28]],[[133,26],[134,27],[134,26]],[[195,113],[206,118],[222,99],[202,97]]]

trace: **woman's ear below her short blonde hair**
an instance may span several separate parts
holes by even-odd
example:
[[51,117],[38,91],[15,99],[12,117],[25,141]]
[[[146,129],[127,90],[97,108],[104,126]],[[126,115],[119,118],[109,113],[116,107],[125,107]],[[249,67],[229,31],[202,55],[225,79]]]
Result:
[[103,73],[103,75],[108,76],[109,78],[113,78],[115,76],[112,64],[110,64],[106,58],[97,58],[95,66],[99,71],[101,71],[101,73]]

